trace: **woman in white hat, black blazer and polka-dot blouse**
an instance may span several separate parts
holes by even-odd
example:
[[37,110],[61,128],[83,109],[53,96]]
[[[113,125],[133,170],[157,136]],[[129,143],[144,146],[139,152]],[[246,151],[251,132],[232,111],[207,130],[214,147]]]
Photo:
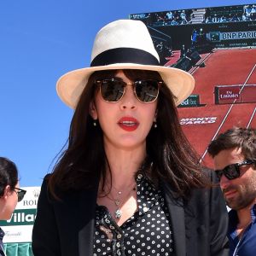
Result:
[[221,192],[177,118],[193,88],[189,73],[160,66],[143,22],[97,33],[90,67],[57,82],[75,112],[42,185],[35,256],[227,254]]

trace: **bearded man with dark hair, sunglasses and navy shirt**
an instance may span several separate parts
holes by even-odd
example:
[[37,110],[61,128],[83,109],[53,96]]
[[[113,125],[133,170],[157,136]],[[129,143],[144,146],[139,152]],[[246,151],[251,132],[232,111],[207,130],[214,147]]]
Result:
[[256,253],[256,130],[233,128],[210,143],[224,199],[231,208],[228,237],[230,255]]

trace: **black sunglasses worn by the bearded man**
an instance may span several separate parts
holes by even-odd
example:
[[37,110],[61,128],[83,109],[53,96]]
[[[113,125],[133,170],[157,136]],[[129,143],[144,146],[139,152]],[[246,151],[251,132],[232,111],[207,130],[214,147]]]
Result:
[[244,160],[241,163],[232,164],[229,166],[225,166],[222,170],[216,170],[216,174],[218,177],[218,181],[220,181],[220,178],[224,175],[228,179],[235,179],[237,177],[240,177],[240,166],[249,166],[253,165],[255,161],[253,160]]

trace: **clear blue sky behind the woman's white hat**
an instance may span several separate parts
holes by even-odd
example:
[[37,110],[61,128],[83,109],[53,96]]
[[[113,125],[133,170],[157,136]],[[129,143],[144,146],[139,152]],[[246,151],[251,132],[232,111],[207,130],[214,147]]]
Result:
[[0,2],[0,155],[21,186],[39,186],[67,140],[73,110],[55,93],[63,73],[90,65],[96,32],[130,14],[255,1],[8,0]]

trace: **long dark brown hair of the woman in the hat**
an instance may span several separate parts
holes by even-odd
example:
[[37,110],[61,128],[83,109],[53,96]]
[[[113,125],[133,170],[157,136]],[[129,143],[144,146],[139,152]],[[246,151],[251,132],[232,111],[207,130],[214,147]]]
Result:
[[[96,79],[110,78],[117,72],[98,71],[90,76],[80,96],[70,125],[67,150],[55,165],[49,177],[49,191],[55,189],[89,189],[96,186],[99,177],[106,177],[106,154],[103,147],[102,129],[93,125],[90,117],[90,102],[96,95]],[[128,79],[158,79],[154,71],[123,70]],[[157,128],[147,137],[147,159],[150,175],[170,183],[177,195],[186,198],[192,188],[204,187],[199,157],[184,136],[175,106],[175,97],[166,84],[160,86],[157,105]]]

